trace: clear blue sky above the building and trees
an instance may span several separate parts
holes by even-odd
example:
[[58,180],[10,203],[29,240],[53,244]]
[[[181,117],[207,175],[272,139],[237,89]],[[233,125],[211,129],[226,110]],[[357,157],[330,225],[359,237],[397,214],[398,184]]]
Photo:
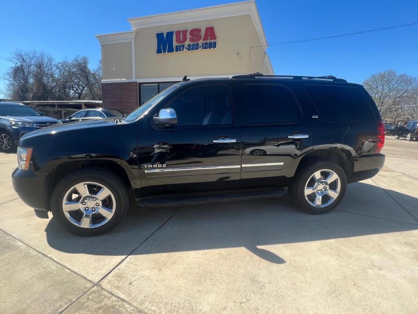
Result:
[[[129,31],[127,18],[202,8],[232,0],[3,1],[0,76],[16,49],[43,50],[56,59],[100,59],[94,35]],[[258,0],[269,44],[418,22],[418,0]],[[418,77],[418,25],[335,39],[271,46],[275,74],[335,75],[361,83],[393,69]],[[0,89],[4,89],[0,80]],[[0,98],[3,93],[0,92]]]

